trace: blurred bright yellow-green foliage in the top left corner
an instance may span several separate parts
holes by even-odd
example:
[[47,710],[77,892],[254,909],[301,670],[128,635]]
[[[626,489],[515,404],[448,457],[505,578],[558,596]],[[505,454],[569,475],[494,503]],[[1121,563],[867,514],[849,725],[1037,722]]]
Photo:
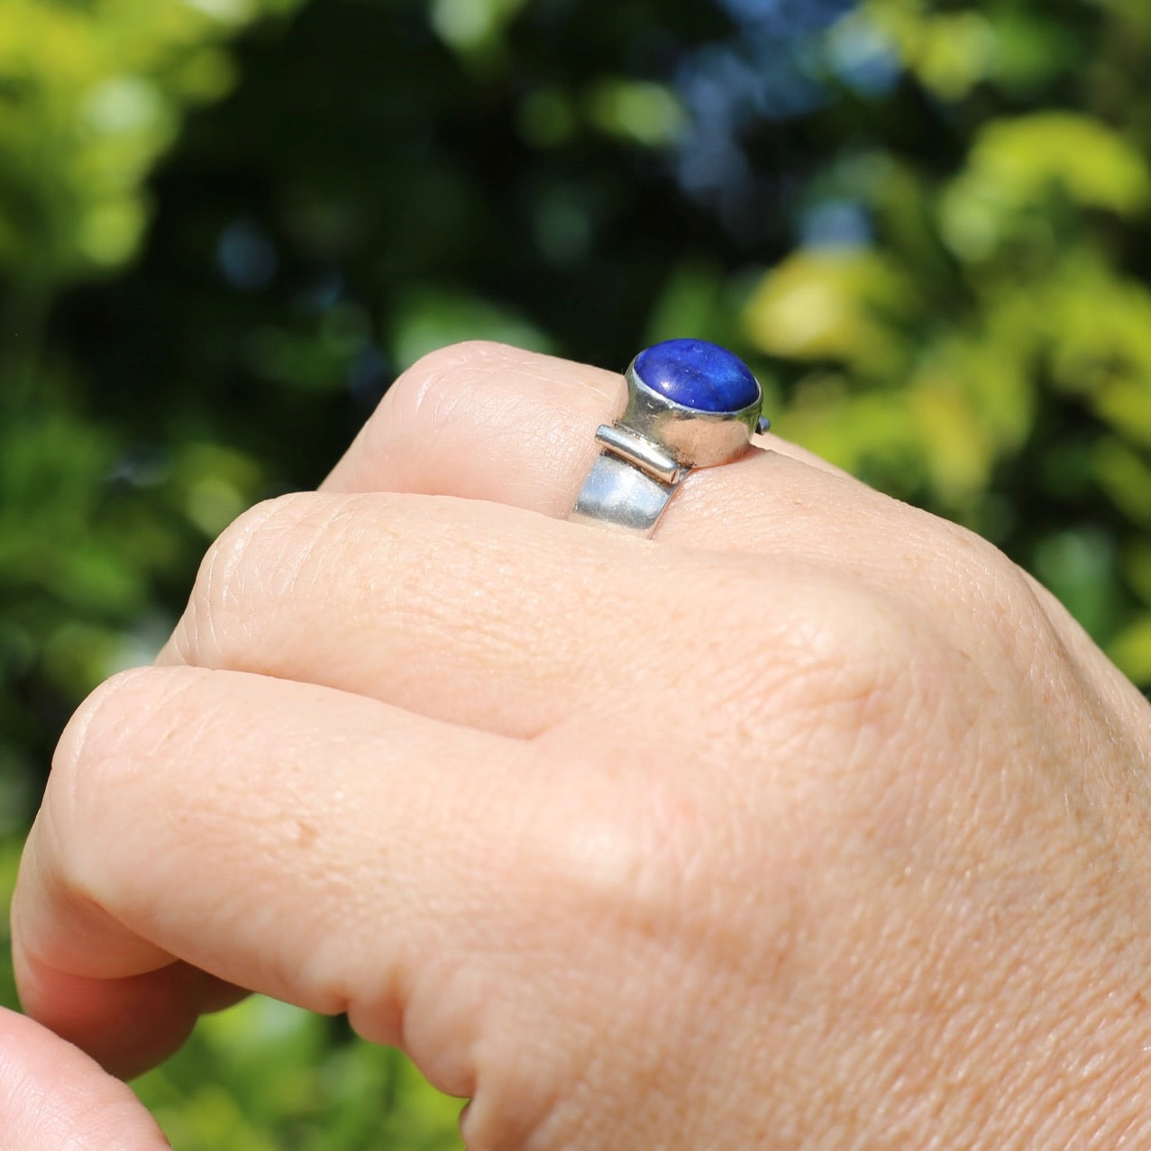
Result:
[[5,0],[0,268],[52,292],[131,257],[185,108],[233,84],[221,41],[295,2]]

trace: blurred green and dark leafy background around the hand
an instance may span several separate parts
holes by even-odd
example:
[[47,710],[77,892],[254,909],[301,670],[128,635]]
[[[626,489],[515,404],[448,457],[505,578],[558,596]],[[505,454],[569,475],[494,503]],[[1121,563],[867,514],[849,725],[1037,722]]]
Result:
[[[1149,157],[1145,0],[0,0],[0,890],[208,541],[460,338],[732,346],[1146,688]],[[138,1089],[182,1151],[458,1148],[268,1000]]]

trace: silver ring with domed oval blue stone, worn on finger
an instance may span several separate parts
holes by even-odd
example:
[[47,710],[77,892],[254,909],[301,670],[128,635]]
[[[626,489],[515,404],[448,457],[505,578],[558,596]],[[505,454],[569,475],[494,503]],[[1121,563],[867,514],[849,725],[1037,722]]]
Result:
[[752,369],[706,340],[654,344],[626,379],[627,405],[595,433],[600,456],[569,519],[647,536],[693,467],[739,459],[771,425]]

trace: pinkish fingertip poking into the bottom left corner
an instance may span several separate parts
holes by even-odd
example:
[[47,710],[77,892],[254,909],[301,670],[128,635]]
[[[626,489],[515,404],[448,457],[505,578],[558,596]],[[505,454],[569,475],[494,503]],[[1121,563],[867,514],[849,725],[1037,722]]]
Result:
[[161,1151],[170,1144],[120,1080],[46,1028],[0,1009],[0,1146]]

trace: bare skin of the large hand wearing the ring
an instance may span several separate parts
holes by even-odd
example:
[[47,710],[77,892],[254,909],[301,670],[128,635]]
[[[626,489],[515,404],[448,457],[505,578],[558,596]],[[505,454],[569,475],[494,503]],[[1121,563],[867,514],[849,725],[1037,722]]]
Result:
[[448,349],[221,536],[61,740],[29,1013],[123,1075],[239,989],[346,1011],[471,1151],[1151,1145],[1146,701],[775,437],[565,523],[622,394]]

